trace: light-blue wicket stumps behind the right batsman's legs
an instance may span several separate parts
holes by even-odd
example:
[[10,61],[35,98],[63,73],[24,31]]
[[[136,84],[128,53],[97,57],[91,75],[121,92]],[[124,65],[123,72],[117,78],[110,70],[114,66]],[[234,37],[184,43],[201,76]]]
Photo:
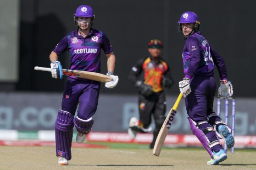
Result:
[[[231,128],[231,133],[232,136],[234,137],[234,128],[235,128],[235,99],[234,98],[229,98],[229,99],[224,99],[225,101],[225,119],[224,122],[228,125],[228,101],[232,101],[232,128]],[[218,98],[217,100],[217,115],[220,117],[221,116],[221,99]],[[224,151],[227,153],[227,145],[224,143]],[[234,146],[231,148],[231,153],[234,154]]]

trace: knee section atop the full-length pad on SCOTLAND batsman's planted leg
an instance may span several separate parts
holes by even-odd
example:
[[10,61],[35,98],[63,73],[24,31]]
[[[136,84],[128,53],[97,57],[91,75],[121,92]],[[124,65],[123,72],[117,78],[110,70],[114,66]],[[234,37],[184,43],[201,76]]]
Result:
[[69,112],[60,110],[57,115],[57,119],[55,122],[55,128],[58,131],[66,132],[72,130],[74,127],[73,124],[73,115]]

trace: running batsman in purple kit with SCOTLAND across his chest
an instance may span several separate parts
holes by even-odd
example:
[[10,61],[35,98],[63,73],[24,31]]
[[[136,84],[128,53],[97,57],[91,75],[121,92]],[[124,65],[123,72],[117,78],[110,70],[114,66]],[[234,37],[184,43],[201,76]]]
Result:
[[[112,81],[105,84],[106,88],[113,88],[118,83],[118,76],[114,75],[116,57],[110,41],[106,35],[92,28],[95,15],[88,5],[81,5],[74,14],[74,23],[77,27],[65,36],[50,53],[52,77],[62,79],[61,62],[58,56],[66,50],[69,52],[70,69],[100,73],[101,48],[107,57],[108,76]],[[100,92],[100,82],[86,80],[73,76],[67,79],[61,110],[58,112],[56,132],[56,156],[59,165],[68,165],[71,159],[71,145],[73,127],[77,133],[77,143],[82,143],[90,132],[94,123],[93,115],[96,112]],[[79,104],[79,106],[78,106]],[[78,116],[74,117],[78,106]]]

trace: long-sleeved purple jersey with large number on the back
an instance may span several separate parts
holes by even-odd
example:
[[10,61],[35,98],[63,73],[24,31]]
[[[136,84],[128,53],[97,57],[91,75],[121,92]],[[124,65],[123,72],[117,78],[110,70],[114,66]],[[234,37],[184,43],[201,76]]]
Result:
[[195,75],[212,77],[214,65],[216,65],[220,79],[227,79],[227,69],[223,58],[211,48],[200,32],[195,32],[188,37],[182,57],[186,78],[191,79]]

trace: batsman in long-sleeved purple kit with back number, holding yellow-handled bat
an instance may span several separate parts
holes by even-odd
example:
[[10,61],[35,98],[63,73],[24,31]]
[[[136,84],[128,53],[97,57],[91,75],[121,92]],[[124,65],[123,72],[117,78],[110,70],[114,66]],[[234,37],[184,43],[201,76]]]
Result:
[[233,86],[227,81],[223,58],[199,32],[200,22],[197,15],[190,11],[184,12],[178,24],[178,31],[186,41],[182,53],[185,76],[179,82],[179,89],[185,97],[190,128],[210,154],[211,160],[207,161],[207,165],[218,165],[228,158],[218,138],[224,138],[227,147],[232,148],[234,137],[227,124],[213,112],[215,66],[220,75],[218,97],[231,97]]

